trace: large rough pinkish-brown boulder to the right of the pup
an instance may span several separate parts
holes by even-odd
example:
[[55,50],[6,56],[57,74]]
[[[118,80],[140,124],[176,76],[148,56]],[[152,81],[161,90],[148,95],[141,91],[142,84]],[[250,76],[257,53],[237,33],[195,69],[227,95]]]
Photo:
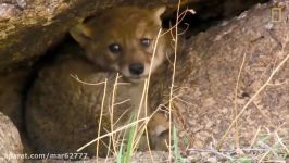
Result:
[[[280,10],[279,22],[272,9]],[[288,18],[288,1],[256,5],[188,43],[188,53],[177,57],[172,104],[181,141],[201,149],[249,146],[259,128],[257,137],[277,131],[289,139]],[[168,103],[168,75],[151,92],[162,103]]]

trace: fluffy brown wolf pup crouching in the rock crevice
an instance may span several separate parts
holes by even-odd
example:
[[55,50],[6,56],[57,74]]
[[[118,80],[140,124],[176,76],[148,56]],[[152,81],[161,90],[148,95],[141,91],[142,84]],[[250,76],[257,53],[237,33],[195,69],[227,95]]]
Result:
[[[162,35],[156,40],[164,11],[164,7],[152,10],[113,8],[85,18],[71,29],[71,35],[84,52],[61,58],[42,68],[28,93],[26,128],[36,152],[75,152],[95,139],[98,133],[104,135],[126,125],[133,113],[139,113],[140,118],[152,113],[140,101],[143,80],[150,72],[158,71],[173,50],[169,35]],[[121,83],[128,82],[128,85],[118,84],[115,95],[112,85],[115,73],[112,72],[121,74]],[[86,85],[72,78],[71,74],[95,84],[108,78],[106,97],[103,85]],[[129,103],[122,102],[127,99],[130,99]],[[113,100],[118,104],[112,104]],[[163,137],[168,127],[162,114],[153,115],[148,124],[152,149],[166,148],[167,137]],[[83,152],[95,155],[99,149],[98,154],[105,156],[111,143],[109,138],[104,138],[98,147],[95,143]]]

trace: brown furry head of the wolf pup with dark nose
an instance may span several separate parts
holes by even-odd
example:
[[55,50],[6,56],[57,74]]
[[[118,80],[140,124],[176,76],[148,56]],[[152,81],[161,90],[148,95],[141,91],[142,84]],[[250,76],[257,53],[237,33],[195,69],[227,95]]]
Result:
[[154,41],[162,26],[160,16],[164,11],[165,7],[108,9],[84,20],[71,29],[71,34],[95,64],[137,82],[149,75],[150,66],[151,72],[155,72],[166,55],[167,40],[160,37],[152,60]]

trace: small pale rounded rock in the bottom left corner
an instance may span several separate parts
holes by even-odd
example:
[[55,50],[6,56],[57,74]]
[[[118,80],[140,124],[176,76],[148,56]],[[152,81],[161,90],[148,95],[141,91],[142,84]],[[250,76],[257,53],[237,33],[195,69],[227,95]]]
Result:
[[23,146],[17,128],[0,112],[0,162],[21,163],[22,152]]

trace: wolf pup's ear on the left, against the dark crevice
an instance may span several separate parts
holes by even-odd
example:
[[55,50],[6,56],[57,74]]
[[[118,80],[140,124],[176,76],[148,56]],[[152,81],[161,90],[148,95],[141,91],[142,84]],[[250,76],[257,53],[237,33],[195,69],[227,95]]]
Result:
[[71,36],[83,47],[89,43],[89,29],[84,24],[78,24],[70,30]]

